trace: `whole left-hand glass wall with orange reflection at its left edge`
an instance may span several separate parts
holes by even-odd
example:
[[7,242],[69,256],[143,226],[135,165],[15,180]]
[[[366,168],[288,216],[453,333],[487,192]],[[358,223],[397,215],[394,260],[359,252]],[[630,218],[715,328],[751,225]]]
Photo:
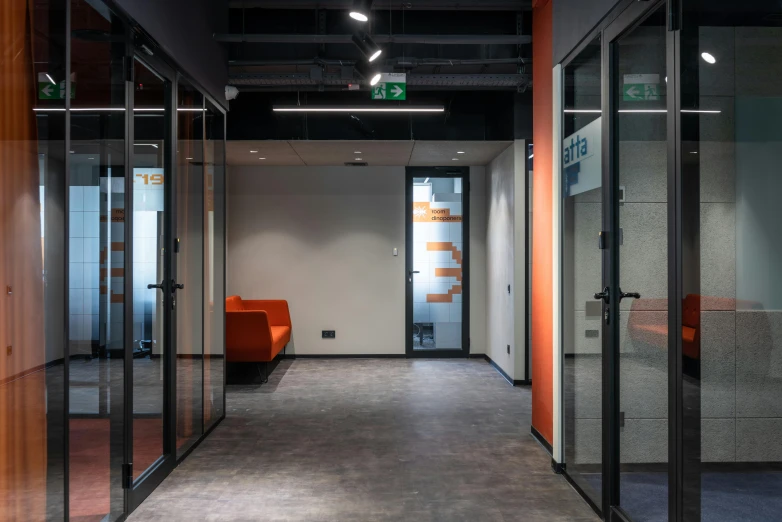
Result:
[[[178,425],[184,450],[205,417],[225,414],[225,114],[209,105],[205,119],[204,97],[182,81],[179,152],[166,157],[176,83],[138,61],[150,53],[134,51],[129,27],[98,0],[0,2],[3,521],[120,519],[143,498],[130,479],[173,448],[163,426]],[[175,174],[178,259],[161,248],[162,187]],[[177,346],[165,346],[169,312],[146,287],[166,259],[186,287]],[[166,386],[174,353],[180,373]],[[174,386],[180,402],[166,407]]]

